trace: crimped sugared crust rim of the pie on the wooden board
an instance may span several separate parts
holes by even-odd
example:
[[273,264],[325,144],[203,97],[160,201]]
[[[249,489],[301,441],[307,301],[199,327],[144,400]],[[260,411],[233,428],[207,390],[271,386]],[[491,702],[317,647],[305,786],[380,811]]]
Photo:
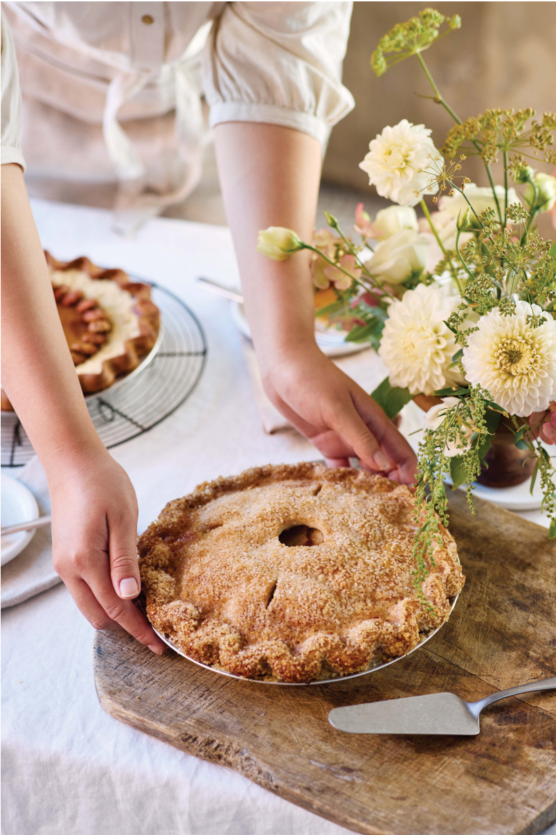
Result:
[[[382,660],[406,655],[422,640],[422,635],[436,629],[447,620],[453,598],[462,590],[465,578],[457,558],[453,537],[439,525],[443,547],[437,549],[438,569],[423,583],[423,591],[434,612],[426,609],[415,597],[407,597],[392,605],[387,620],[361,621],[349,635],[329,635],[318,632],[291,650],[276,639],[247,645],[242,648],[241,635],[235,627],[214,619],[197,622],[195,606],[183,600],[171,600],[167,580],[162,569],[156,569],[158,534],[167,531],[176,521],[196,509],[233,493],[265,483],[281,481],[318,480],[343,483],[367,493],[393,493],[411,497],[404,485],[382,476],[352,468],[326,468],[320,463],[266,465],[250,468],[235,476],[220,477],[201,483],[192,493],[169,502],[159,518],[139,537],[139,564],[143,582],[144,608],[149,620],[161,633],[184,651],[185,655],[203,664],[214,666],[245,678],[269,678],[287,682],[308,682],[319,678],[346,676],[365,671]],[[444,569],[443,573],[440,569]],[[165,576],[164,576],[165,575]],[[172,581],[173,582],[173,581]],[[164,600],[164,584],[166,597]],[[203,638],[195,645],[197,627],[203,626]],[[211,643],[212,642],[212,643]],[[261,647],[264,649],[261,650]]]

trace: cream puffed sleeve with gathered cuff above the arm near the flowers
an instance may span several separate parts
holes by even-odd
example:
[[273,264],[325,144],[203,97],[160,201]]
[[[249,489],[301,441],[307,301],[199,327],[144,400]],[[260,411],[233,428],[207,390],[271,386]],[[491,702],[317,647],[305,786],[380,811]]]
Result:
[[350,112],[341,83],[352,3],[226,3],[205,46],[210,125],[265,122],[326,143]]

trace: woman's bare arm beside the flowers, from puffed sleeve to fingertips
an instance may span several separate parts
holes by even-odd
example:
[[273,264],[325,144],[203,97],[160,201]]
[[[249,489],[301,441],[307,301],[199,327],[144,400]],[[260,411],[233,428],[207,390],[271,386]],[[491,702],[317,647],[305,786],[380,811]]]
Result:
[[215,138],[266,393],[331,466],[346,466],[355,457],[365,468],[412,484],[417,459],[407,440],[316,346],[309,253],[270,261],[255,251],[259,230],[268,226],[286,226],[311,240],[320,144],[298,130],[252,122],[218,124]]

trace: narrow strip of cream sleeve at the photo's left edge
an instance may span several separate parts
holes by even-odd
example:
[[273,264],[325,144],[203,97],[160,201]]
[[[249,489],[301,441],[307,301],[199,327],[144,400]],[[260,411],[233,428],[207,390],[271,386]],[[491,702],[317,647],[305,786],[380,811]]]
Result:
[[12,33],[2,11],[2,55],[0,58],[0,85],[2,87],[2,124],[0,126],[2,164],[17,162],[25,170],[21,149],[23,116],[21,90],[19,89],[18,63],[13,46]]

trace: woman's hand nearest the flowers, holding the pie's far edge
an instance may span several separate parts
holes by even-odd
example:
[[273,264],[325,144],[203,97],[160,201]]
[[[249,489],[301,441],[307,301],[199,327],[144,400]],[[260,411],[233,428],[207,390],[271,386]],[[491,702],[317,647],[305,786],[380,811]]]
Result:
[[262,369],[265,391],[331,467],[348,458],[412,485],[417,458],[382,408],[316,347],[306,344]]

